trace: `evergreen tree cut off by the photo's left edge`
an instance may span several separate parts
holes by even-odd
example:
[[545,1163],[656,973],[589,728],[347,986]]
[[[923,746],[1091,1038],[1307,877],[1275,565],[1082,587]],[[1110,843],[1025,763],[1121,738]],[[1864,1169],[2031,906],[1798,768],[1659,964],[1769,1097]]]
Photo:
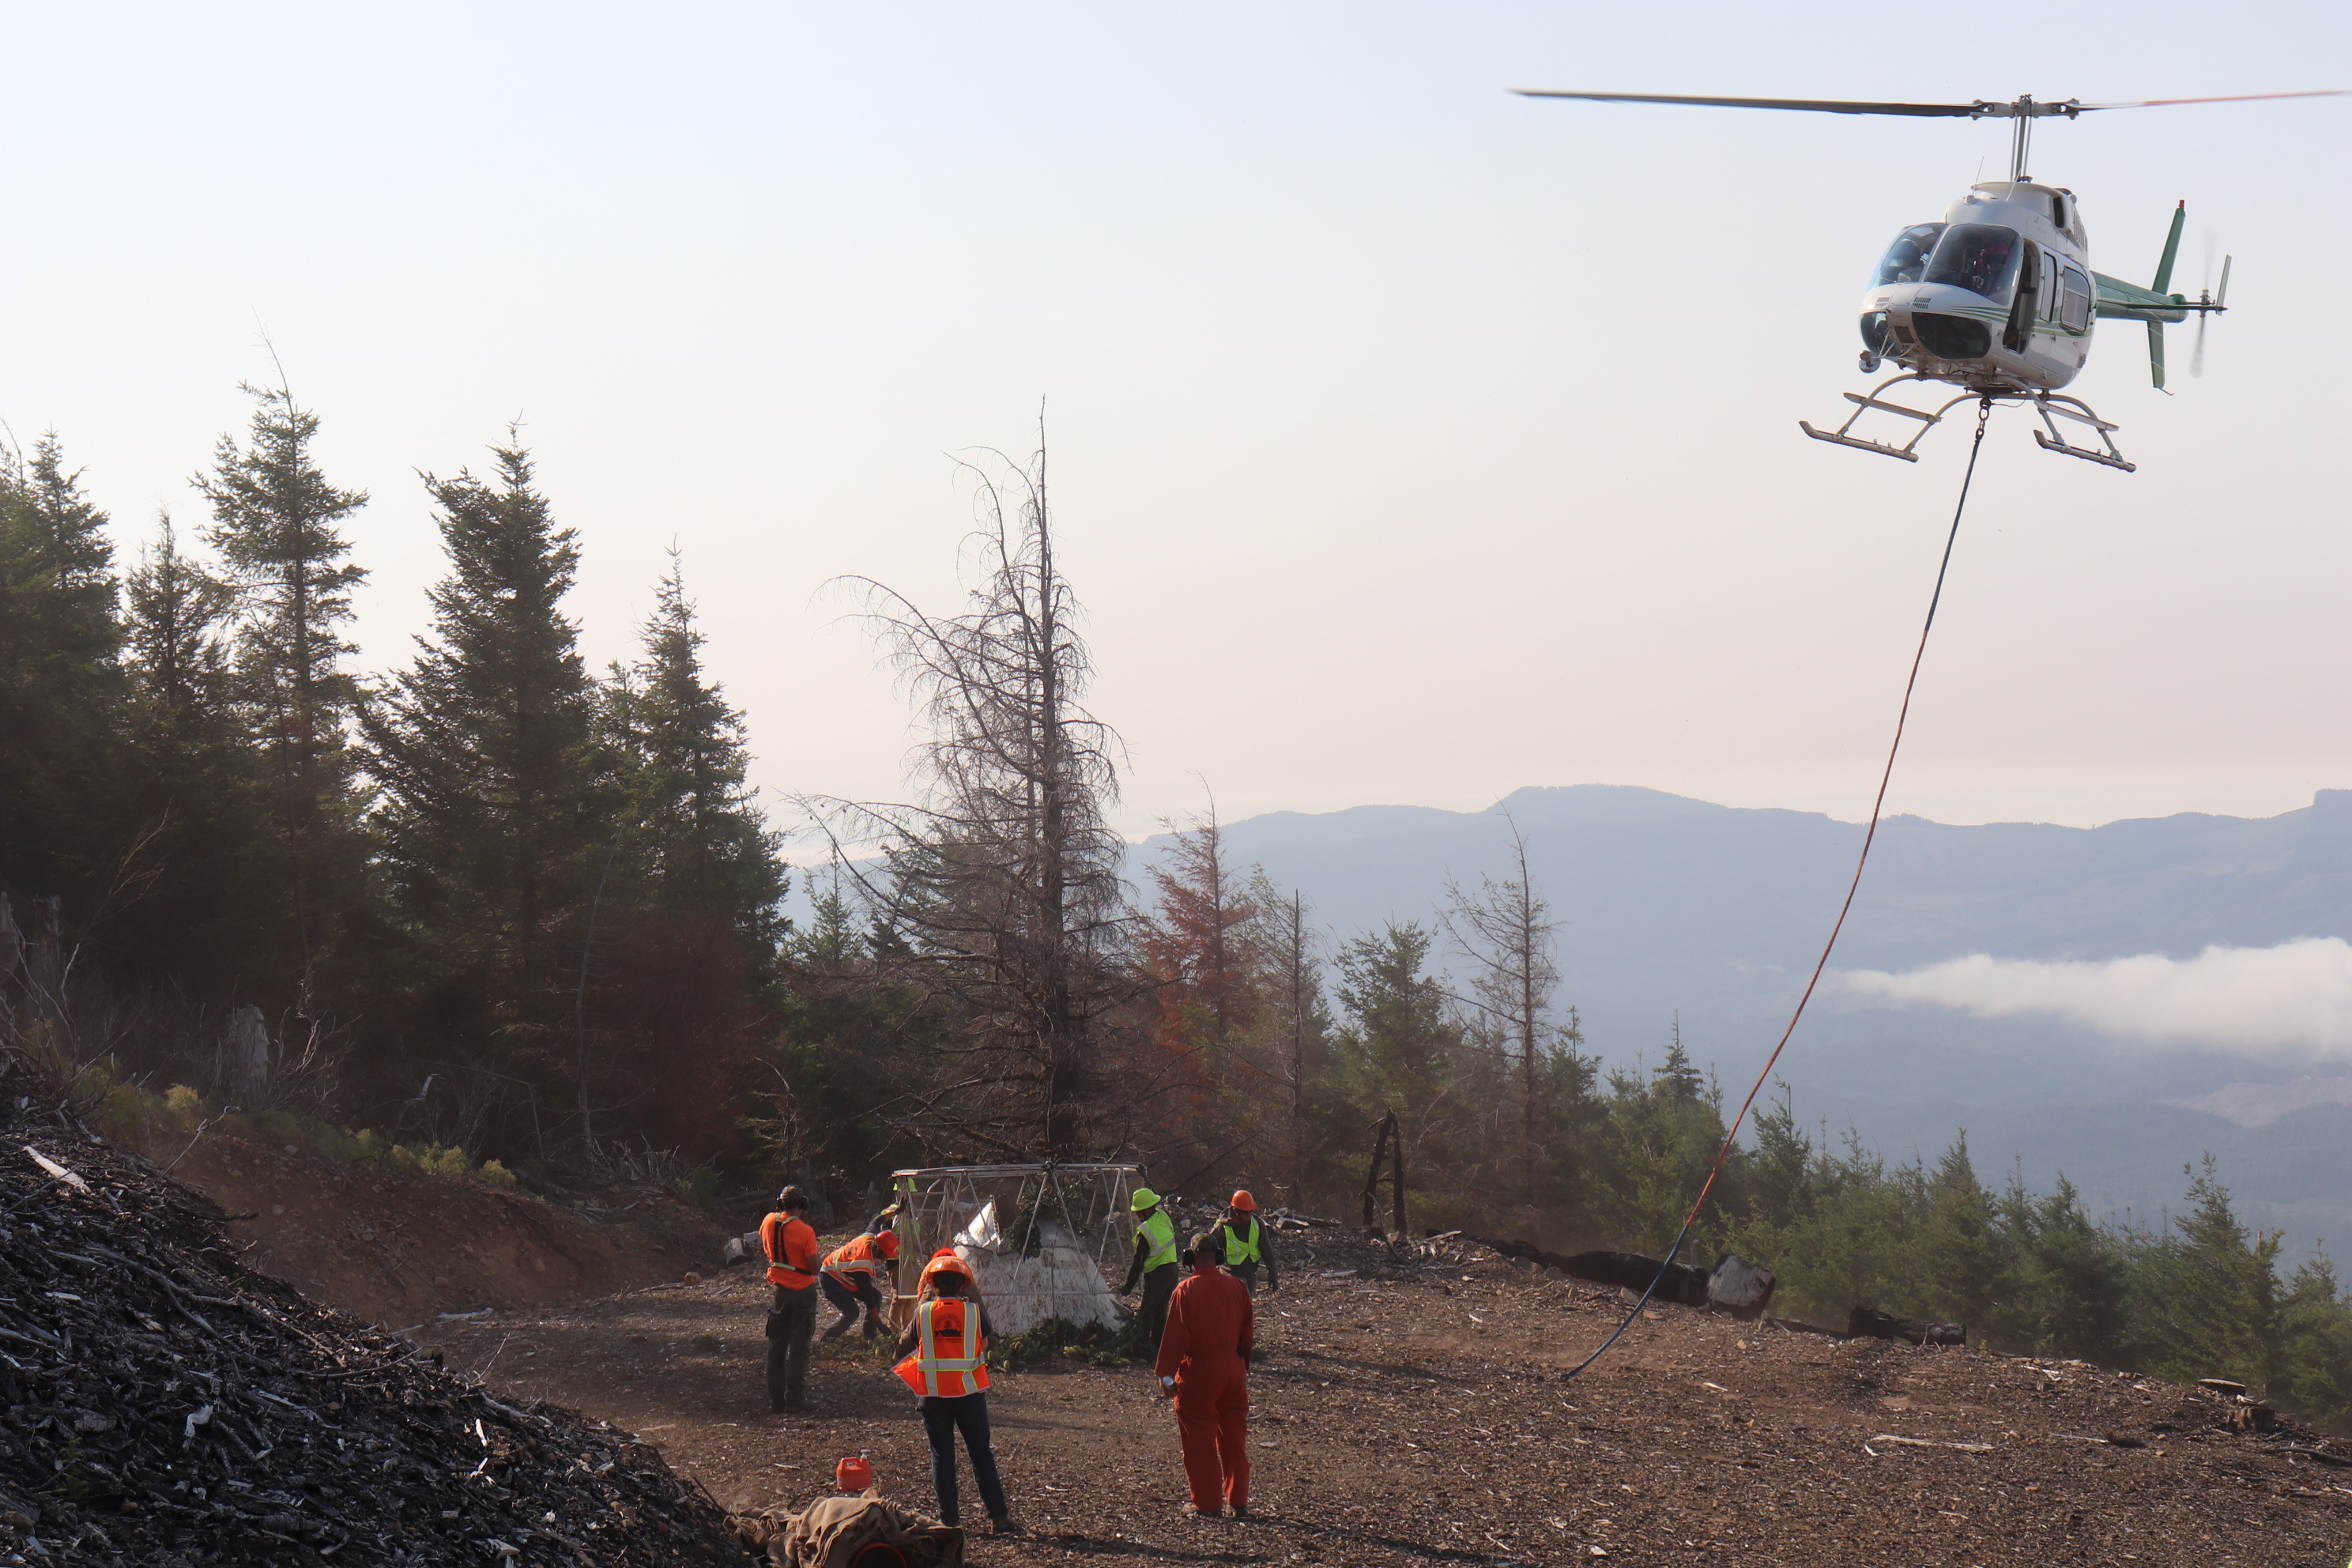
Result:
[[125,870],[113,545],[54,433],[0,458],[0,886],[87,924]]

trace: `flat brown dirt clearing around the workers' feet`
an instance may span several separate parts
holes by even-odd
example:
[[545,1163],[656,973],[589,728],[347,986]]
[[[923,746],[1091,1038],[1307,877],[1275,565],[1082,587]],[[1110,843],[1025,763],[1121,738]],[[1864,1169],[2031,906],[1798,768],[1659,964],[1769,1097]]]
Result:
[[[2230,1432],[2227,1401],[2201,1389],[1682,1307],[1653,1307],[1564,1382],[1623,1312],[1613,1291],[1501,1260],[1442,1281],[1294,1262],[1289,1288],[1258,1298],[1254,1519],[1181,1516],[1174,1420],[1143,1368],[1056,1361],[995,1380],[997,1455],[1033,1533],[976,1537],[971,1559],[2340,1568],[2352,1554],[2352,1467],[2328,1462],[2352,1446]],[[844,1340],[816,1361],[809,1418],[767,1413],[764,1298],[743,1269],[426,1338],[508,1396],[640,1432],[736,1512],[802,1507],[861,1450],[887,1495],[929,1512],[915,1401],[884,1356]],[[962,1486],[978,1519],[969,1472]]]

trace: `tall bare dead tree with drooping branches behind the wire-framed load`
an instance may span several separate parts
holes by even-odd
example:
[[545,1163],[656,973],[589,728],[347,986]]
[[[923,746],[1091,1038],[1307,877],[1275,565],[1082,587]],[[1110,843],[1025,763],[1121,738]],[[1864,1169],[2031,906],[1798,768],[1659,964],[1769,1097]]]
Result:
[[1047,463],[990,451],[974,484],[976,567],[960,616],[844,578],[929,724],[913,804],[802,802],[849,860],[903,964],[950,1001],[941,1093],[908,1131],[934,1147],[1065,1159],[1124,1143],[1096,1095],[1108,1016],[1136,994],[1122,964],[1117,736],[1084,708],[1094,675],[1054,559]]

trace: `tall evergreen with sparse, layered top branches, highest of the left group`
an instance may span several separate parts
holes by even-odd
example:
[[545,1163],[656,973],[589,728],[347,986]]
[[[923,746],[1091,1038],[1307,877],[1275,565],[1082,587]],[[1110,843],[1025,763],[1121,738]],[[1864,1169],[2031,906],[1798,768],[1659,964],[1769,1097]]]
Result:
[[214,470],[195,487],[212,503],[207,538],[242,595],[238,686],[268,757],[294,983],[308,1001],[320,959],[358,912],[365,875],[350,748],[360,684],[343,670],[353,651],[343,623],[367,571],[346,559],[350,543],[336,524],[367,494],[320,473],[310,454],[318,414],[285,388],[245,390],[259,404],[247,444],[223,435]]

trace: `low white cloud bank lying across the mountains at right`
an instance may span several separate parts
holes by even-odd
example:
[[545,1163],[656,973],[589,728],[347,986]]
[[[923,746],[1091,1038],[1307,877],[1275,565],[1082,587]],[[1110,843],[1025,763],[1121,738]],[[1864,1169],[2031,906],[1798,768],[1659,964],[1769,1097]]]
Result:
[[2206,947],[2194,959],[2063,961],[1973,954],[1837,976],[1849,997],[1952,1006],[1978,1018],[2051,1013],[2103,1034],[2239,1056],[2352,1060],[2352,943]]

